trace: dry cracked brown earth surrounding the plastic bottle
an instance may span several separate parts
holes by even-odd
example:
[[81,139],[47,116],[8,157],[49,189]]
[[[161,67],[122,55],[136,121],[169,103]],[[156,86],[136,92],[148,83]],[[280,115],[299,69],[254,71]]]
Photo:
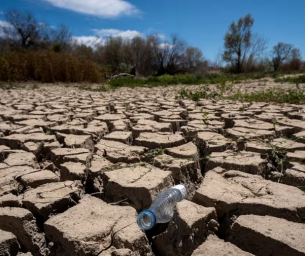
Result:
[[[0,90],[0,254],[305,255],[305,106],[177,88]],[[141,231],[179,183],[172,221]]]

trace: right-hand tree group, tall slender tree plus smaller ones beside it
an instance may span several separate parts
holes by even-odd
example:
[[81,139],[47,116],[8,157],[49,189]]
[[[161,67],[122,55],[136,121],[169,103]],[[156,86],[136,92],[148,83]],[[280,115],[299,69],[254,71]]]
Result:
[[263,36],[253,34],[250,14],[232,22],[224,38],[223,60],[236,73],[253,71],[301,70],[304,66],[300,49],[279,42],[267,53]]

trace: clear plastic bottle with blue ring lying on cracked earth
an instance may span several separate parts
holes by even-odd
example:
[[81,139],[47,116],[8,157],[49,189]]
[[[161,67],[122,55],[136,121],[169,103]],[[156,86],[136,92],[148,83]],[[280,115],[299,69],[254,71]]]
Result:
[[183,184],[171,187],[161,192],[149,209],[140,212],[137,223],[142,230],[149,230],[157,223],[169,222],[174,214],[176,204],[187,196]]

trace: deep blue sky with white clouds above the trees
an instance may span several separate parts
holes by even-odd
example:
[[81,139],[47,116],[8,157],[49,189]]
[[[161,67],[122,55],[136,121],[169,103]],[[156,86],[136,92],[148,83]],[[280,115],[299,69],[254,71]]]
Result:
[[79,40],[178,34],[212,61],[229,24],[250,13],[254,32],[270,48],[291,43],[305,57],[305,0],[0,0],[0,20],[12,8],[29,10],[52,26],[64,23]]

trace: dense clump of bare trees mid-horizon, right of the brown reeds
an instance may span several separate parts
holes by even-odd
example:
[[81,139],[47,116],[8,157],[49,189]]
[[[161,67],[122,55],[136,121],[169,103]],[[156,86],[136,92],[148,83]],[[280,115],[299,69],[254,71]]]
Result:
[[122,72],[135,76],[196,72],[207,65],[200,49],[187,47],[177,36],[170,40],[158,35],[133,39],[109,37],[92,51],[76,44],[73,49],[104,66],[110,77]]

